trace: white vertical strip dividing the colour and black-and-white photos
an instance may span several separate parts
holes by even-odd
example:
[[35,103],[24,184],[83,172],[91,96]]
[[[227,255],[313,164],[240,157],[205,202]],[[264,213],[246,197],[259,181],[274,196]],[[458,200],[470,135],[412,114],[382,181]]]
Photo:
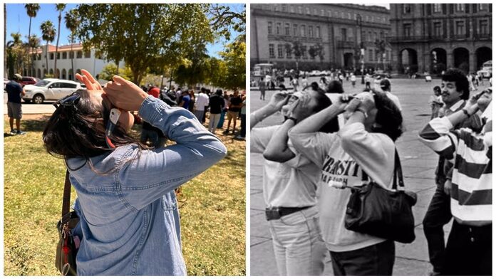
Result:
[[246,129],[247,129],[247,133],[245,135],[245,145],[244,145],[244,150],[245,150],[245,154],[246,154],[246,165],[245,165],[245,188],[246,188],[246,203],[245,203],[245,206],[246,206],[246,209],[245,209],[245,214],[246,214],[246,218],[245,218],[245,224],[244,224],[244,228],[245,228],[245,238],[246,238],[246,247],[245,247],[245,268],[246,268],[246,275],[247,276],[250,276],[250,250],[249,250],[249,247],[250,247],[250,214],[249,214],[249,209],[250,209],[250,149],[249,149],[249,142],[250,142],[250,130],[248,130],[248,127],[250,127],[250,121],[249,121],[249,114],[251,112],[251,105],[250,105],[250,98],[249,96],[251,95],[251,92],[250,92],[250,76],[249,76],[249,73],[250,73],[250,66],[249,66],[249,43],[250,43],[250,31],[249,31],[249,22],[250,22],[250,3],[249,1],[246,1],[246,6],[245,6],[245,14],[246,14],[246,22],[244,23],[245,24],[245,31],[246,31],[246,52],[244,53],[244,57],[245,57],[245,65],[244,65],[244,68],[246,70],[245,72],[245,80],[244,80],[244,83],[245,83],[245,87],[246,87],[246,95],[245,95],[245,100],[246,100],[246,105],[247,105],[247,115],[245,116],[246,117],[246,121],[244,123],[244,125],[246,126]]

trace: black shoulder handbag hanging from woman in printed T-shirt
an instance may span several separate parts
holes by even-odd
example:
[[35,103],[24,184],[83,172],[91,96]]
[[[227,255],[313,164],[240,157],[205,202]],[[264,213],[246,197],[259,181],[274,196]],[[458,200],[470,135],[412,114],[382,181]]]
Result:
[[[362,171],[362,175],[363,180],[368,181],[367,174]],[[393,191],[374,181],[351,187],[344,226],[358,233],[412,243],[415,240],[412,206],[416,201],[415,193],[405,191],[401,162],[395,149]]]

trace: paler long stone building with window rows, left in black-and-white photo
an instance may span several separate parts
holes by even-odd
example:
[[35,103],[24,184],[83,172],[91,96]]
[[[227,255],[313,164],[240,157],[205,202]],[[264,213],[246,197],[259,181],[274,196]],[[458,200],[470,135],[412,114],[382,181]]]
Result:
[[383,68],[391,60],[391,47],[378,46],[391,36],[389,10],[382,6],[251,4],[250,27],[252,67],[360,68],[359,46],[366,68]]

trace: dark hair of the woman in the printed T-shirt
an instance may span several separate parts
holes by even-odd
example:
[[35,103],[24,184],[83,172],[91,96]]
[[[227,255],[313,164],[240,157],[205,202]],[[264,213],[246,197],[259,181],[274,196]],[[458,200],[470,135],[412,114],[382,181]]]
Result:
[[403,116],[400,109],[386,94],[374,92],[373,100],[377,108],[378,127],[372,127],[372,131],[386,134],[396,142],[396,139],[403,134]]

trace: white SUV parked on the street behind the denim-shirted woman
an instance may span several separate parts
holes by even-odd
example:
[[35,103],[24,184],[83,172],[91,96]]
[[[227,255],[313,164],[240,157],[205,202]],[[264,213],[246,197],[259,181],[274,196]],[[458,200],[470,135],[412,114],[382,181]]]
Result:
[[46,78],[35,85],[24,86],[26,95],[22,98],[25,102],[42,104],[46,100],[56,101],[64,98],[74,91],[81,89],[81,83],[72,80],[60,80],[58,78]]

